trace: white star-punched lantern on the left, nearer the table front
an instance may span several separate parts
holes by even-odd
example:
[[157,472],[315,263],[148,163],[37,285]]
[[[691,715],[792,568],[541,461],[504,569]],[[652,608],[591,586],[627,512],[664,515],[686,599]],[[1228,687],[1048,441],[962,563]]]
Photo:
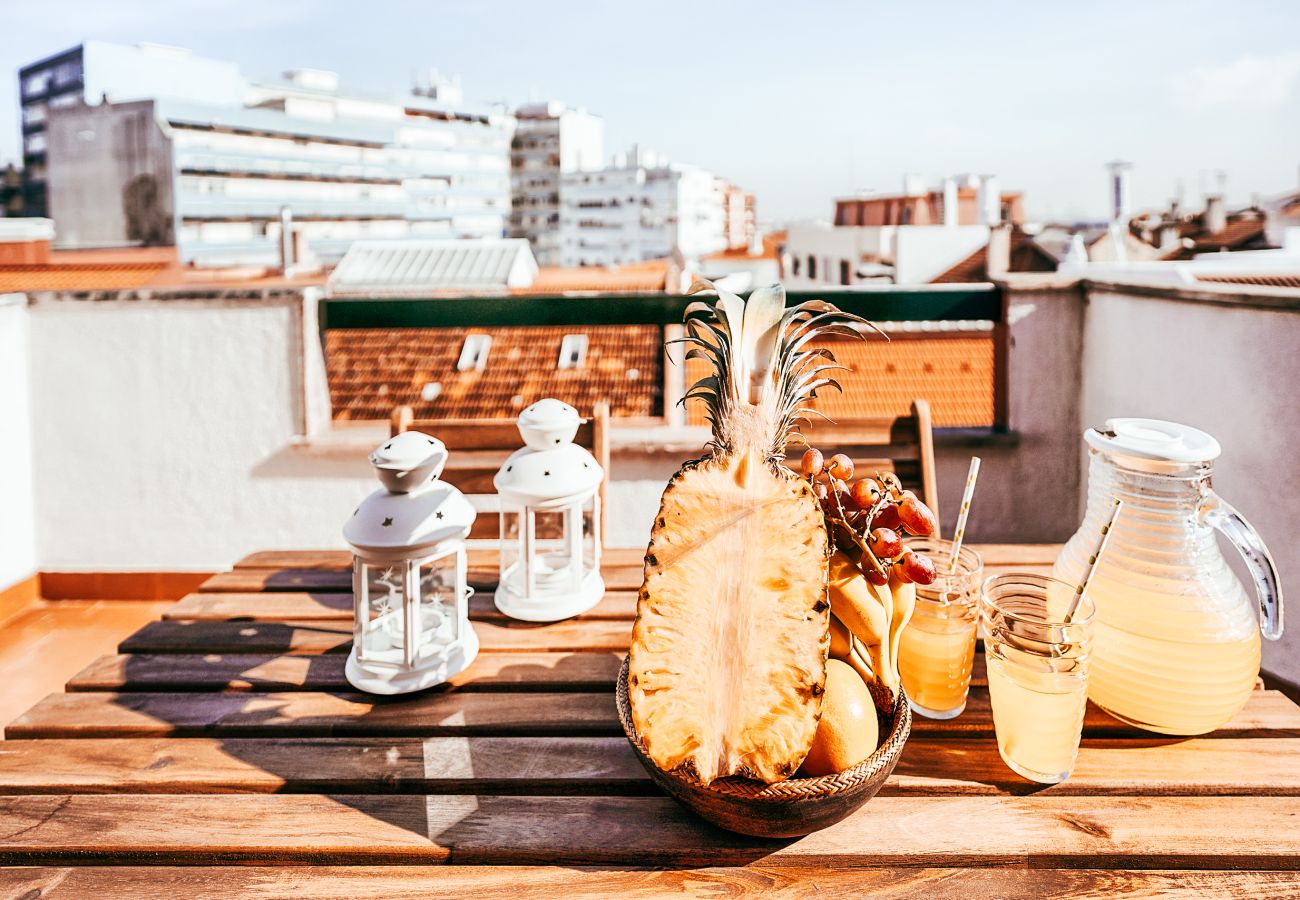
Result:
[[407,693],[446,682],[478,654],[465,583],[474,509],[438,480],[447,449],[428,434],[398,434],[370,463],[384,486],[343,525],[356,616],[347,680]]

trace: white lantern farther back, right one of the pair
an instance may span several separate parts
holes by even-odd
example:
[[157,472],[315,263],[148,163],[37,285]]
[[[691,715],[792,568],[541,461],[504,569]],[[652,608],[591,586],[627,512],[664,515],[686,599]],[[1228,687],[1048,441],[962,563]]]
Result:
[[582,419],[556,399],[519,416],[525,446],[493,484],[500,497],[497,609],[525,622],[585,613],[604,596],[601,580],[601,480],[595,457],[573,443]]

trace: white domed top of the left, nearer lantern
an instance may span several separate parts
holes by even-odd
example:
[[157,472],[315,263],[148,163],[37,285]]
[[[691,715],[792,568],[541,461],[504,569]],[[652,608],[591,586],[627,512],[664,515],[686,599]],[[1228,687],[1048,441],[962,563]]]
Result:
[[436,553],[468,537],[477,512],[464,494],[438,480],[447,463],[442,441],[404,432],[376,447],[370,463],[384,486],[363,499],[343,525],[343,540],[358,555]]

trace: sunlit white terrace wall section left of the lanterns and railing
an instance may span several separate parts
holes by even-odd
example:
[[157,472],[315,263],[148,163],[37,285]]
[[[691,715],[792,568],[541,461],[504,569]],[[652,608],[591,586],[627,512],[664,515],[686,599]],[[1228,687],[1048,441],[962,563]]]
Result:
[[337,544],[365,481],[283,464],[325,415],[315,300],[42,297],[29,313],[42,570]]

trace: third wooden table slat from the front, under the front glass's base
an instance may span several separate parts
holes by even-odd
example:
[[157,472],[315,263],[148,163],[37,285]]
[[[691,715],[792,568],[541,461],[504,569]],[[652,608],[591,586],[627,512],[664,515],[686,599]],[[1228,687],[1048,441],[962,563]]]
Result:
[[[1300,739],[1084,740],[1043,787],[987,740],[913,740],[880,796],[1300,797]],[[0,743],[6,793],[646,795],[621,737],[139,737]]]

